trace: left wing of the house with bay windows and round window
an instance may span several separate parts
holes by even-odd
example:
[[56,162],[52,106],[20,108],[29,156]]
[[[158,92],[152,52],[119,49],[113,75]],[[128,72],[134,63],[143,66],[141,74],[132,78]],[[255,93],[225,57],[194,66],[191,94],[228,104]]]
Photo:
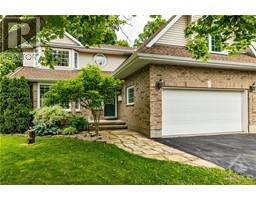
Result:
[[[9,75],[9,77],[24,76],[29,80],[33,108],[42,106],[43,95],[55,81],[75,77],[79,70],[87,64],[97,64],[105,73],[112,73],[134,51],[133,48],[113,45],[86,48],[68,33],[65,33],[62,39],[52,40],[49,46],[52,47],[57,58],[57,66],[54,70],[40,65],[39,58],[44,47],[38,46],[34,49],[25,50],[23,66]],[[116,103],[106,104],[103,118],[117,118],[116,108]],[[81,110],[79,100],[71,103],[67,109],[73,113],[84,111]]]

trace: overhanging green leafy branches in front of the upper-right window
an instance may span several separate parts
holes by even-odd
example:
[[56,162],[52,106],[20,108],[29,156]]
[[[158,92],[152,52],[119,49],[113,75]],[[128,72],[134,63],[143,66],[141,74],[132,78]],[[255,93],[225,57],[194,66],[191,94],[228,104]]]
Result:
[[204,15],[185,31],[187,48],[195,59],[209,58],[208,37],[217,37],[218,45],[230,55],[246,51],[256,41],[254,15]]

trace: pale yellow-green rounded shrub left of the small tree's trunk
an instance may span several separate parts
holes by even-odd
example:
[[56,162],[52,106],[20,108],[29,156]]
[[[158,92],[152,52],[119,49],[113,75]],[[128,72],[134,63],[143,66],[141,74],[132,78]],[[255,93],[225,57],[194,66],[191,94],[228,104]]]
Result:
[[64,127],[68,124],[69,113],[61,106],[45,106],[34,111],[35,125],[45,124],[47,127],[57,126]]

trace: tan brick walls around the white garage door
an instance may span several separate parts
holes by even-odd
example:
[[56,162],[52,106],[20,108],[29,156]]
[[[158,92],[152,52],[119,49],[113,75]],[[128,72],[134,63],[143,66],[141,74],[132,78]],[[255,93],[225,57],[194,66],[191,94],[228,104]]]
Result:
[[249,132],[256,132],[256,93],[249,87],[256,81],[256,72],[227,69],[183,67],[171,65],[149,65],[125,79],[125,88],[135,85],[136,101],[132,108],[119,103],[119,117],[128,127],[143,132],[150,137],[158,137],[162,127],[162,90],[155,87],[159,79],[166,87],[242,89],[248,90]]

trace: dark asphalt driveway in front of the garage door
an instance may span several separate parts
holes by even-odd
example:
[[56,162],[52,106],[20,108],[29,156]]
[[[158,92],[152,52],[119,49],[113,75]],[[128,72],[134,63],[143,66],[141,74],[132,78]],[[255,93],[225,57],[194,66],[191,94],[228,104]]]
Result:
[[175,147],[239,174],[256,178],[256,134],[227,134],[156,141]]

